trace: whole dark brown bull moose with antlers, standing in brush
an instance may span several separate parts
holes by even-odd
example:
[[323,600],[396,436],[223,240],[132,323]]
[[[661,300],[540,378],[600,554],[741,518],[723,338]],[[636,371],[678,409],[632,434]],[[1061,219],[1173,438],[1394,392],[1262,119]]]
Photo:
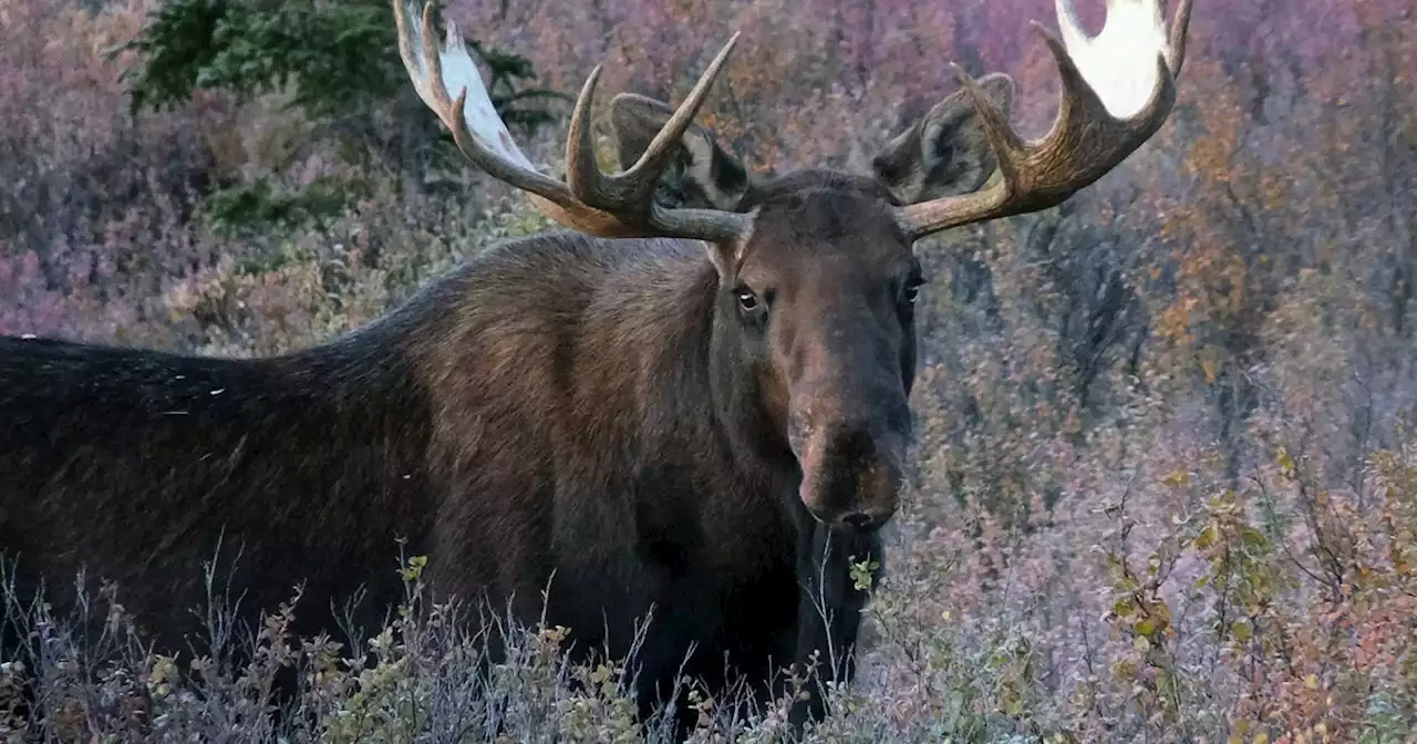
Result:
[[[1176,99],[1190,1],[1108,0],[1085,34],[1037,26],[1061,77],[1039,140],[1013,81],[972,78],[884,145],[870,173],[758,177],[694,123],[733,37],[677,108],[608,106],[597,67],[565,179],[531,164],[455,24],[394,0],[398,50],[458,149],[570,228],[489,247],[381,319],[309,349],[207,359],[0,339],[0,540],[21,587],[116,580],[160,645],[194,631],[201,561],[241,551],[247,611],[303,582],[398,599],[397,540],[445,597],[568,626],[625,653],[639,618],[648,713],[680,673],[765,683],[826,653],[852,676],[911,434],[915,242],[1044,210],[1121,163]],[[691,653],[690,653],[691,650]],[[686,662],[686,658],[689,659]],[[823,713],[819,696],[799,717]]]

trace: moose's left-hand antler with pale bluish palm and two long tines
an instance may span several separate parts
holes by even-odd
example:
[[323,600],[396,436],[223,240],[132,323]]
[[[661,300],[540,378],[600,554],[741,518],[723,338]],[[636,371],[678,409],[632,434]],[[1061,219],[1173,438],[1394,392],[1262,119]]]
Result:
[[738,34],[724,44],[699,82],[649,147],[629,170],[608,176],[595,162],[591,142],[591,103],[601,77],[597,65],[581,88],[571,116],[565,145],[567,180],[561,183],[540,173],[517,149],[507,126],[497,116],[487,96],[468,47],[456,24],[448,20],[448,34],[439,47],[434,41],[432,3],[393,0],[398,23],[398,54],[424,103],[452,132],[463,156],[487,174],[529,191],[531,201],[547,217],[592,235],[682,237],[706,241],[730,241],[741,235],[748,217],[718,210],[666,208],[653,198],[655,181],[673,156],[684,130],[708,94],[708,86],[728,60]]

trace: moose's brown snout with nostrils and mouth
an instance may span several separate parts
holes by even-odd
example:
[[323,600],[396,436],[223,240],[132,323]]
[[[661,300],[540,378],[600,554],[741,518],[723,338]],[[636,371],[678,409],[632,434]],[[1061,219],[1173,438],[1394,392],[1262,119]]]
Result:
[[900,500],[904,436],[871,421],[794,424],[788,442],[802,468],[799,496],[818,522],[879,530]]

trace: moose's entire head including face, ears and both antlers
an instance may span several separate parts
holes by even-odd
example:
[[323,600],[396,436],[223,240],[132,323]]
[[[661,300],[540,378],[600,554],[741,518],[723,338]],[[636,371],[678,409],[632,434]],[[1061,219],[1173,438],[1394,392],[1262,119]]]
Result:
[[1190,1],[1168,34],[1156,0],[1108,0],[1101,34],[1058,0],[1061,38],[1034,24],[1063,79],[1050,132],[1009,125],[1013,81],[975,79],[887,142],[870,173],[808,169],[772,179],[694,123],[734,37],[677,108],[632,94],[609,105],[621,171],[597,164],[597,67],[575,102],[565,180],[538,171],[495,112],[455,24],[435,41],[395,1],[400,52],[424,102],[476,167],[530,194],[550,218],[608,238],[701,241],[717,281],[717,408],[738,446],[799,473],[820,523],[879,529],[897,509],[915,366],[917,239],[1044,210],[1091,184],[1165,122],[1176,99]]

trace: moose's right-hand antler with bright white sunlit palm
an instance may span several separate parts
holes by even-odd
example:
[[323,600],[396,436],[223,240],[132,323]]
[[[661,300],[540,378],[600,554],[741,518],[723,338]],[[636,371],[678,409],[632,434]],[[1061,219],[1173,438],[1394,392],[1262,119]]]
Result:
[[1063,41],[1032,26],[1063,77],[1057,119],[1041,140],[1023,142],[958,65],[955,74],[983,123],[999,167],[983,188],[897,207],[911,238],[951,227],[1046,210],[1117,167],[1155,133],[1176,102],[1192,0],[1182,0],[1168,41],[1158,0],[1107,0],[1095,38],[1071,0],[1056,0]]

